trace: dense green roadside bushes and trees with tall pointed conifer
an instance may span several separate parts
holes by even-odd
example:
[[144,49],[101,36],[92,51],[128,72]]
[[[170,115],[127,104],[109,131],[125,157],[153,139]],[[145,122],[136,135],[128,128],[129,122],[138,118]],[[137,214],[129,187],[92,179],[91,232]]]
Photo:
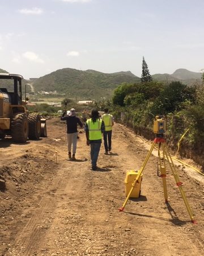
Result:
[[204,167],[204,75],[202,85],[158,82],[152,80],[144,61],[141,82],[121,84],[114,90],[112,102],[98,102],[98,107],[103,110],[104,105],[109,105],[116,121],[147,139],[154,139],[154,117],[165,115],[169,146],[176,150],[179,139],[188,130],[180,154]]

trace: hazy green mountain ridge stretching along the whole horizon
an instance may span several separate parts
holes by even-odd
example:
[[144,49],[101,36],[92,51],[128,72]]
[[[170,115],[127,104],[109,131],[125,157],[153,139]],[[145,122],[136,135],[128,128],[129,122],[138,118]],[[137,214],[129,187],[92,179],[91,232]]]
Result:
[[[0,73],[6,73],[0,69]],[[176,69],[172,74],[154,74],[152,78],[156,81],[181,81],[187,85],[201,82],[201,73],[188,71],[188,69]],[[33,80],[24,80],[24,83],[32,83],[35,92],[54,92],[65,94],[67,97],[78,97],[86,99],[110,98],[113,90],[123,82],[134,83],[141,79],[131,71],[120,71],[114,73],[103,73],[94,69],[81,71],[73,68],[62,68],[45,76]]]

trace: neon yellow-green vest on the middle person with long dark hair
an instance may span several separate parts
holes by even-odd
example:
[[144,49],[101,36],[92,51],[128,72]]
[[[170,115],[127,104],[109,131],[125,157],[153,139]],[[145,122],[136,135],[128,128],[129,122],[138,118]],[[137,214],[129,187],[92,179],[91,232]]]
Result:
[[90,141],[102,139],[101,123],[101,119],[97,119],[95,123],[92,121],[91,118],[87,120]]

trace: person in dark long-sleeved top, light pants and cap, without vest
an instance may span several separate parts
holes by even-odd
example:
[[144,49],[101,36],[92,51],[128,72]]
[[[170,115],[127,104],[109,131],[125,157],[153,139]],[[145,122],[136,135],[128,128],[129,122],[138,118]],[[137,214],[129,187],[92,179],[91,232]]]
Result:
[[[66,114],[66,110],[63,112],[61,116],[62,121],[66,121],[67,124],[67,143],[68,143],[68,157],[69,159],[76,160],[76,143],[78,137],[77,125],[79,124],[81,128],[83,128],[83,123],[80,121],[78,117],[76,117],[75,109],[70,109],[68,115]],[[73,145],[73,155],[71,156],[71,145]]]

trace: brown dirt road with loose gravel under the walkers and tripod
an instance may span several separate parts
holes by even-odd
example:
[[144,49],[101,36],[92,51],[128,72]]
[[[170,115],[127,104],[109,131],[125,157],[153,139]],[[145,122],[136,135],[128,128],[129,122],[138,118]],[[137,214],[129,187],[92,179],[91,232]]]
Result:
[[49,120],[48,135],[23,145],[0,141],[0,179],[6,180],[6,191],[0,191],[1,256],[203,255],[204,185],[184,167],[179,175],[197,225],[171,171],[171,206],[164,203],[155,156],[143,173],[141,197],[118,212],[126,170],[140,168],[148,152],[125,127],[114,126],[112,155],[101,146],[98,171],[90,170],[84,133],[75,162],[67,160],[65,123]]

